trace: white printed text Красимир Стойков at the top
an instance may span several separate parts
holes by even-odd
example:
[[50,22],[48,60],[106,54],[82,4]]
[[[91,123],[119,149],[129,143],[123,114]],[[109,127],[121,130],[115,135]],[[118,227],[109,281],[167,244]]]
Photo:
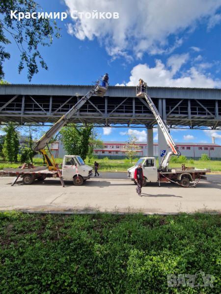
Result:
[[[71,18],[77,19],[119,19],[119,12],[98,12],[93,10],[92,12],[79,12],[73,10]],[[61,21],[67,18],[67,12],[18,12],[18,10],[11,10],[10,18],[21,21],[22,19],[60,19]]]

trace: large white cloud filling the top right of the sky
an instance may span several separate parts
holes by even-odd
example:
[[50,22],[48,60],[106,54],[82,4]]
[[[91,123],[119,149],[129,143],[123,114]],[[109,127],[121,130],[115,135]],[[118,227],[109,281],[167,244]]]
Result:
[[[69,12],[118,12],[119,19],[87,19],[83,17],[67,25],[68,33],[80,40],[97,38],[111,56],[137,58],[143,52],[169,53],[180,46],[179,33],[193,31],[198,22],[218,22],[221,0],[64,0]],[[215,15],[216,21],[212,22]],[[168,47],[168,37],[174,44]]]

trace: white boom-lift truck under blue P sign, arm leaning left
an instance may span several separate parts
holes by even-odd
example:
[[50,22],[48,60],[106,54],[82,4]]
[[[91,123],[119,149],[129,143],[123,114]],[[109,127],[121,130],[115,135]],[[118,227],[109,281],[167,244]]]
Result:
[[160,126],[164,137],[166,139],[166,143],[170,148],[170,151],[167,151],[165,156],[163,157],[159,168],[156,166],[156,158],[154,157],[141,157],[135,166],[128,169],[128,178],[135,182],[134,173],[138,164],[142,165],[144,181],[143,186],[146,185],[147,182],[158,182],[160,186],[160,182],[175,182],[183,187],[189,187],[190,182],[193,182],[193,186],[196,185],[196,179],[206,179],[206,172],[210,172],[210,170],[206,169],[195,169],[195,168],[186,168],[185,165],[182,165],[181,169],[168,169],[169,160],[172,155],[180,156],[181,153],[175,145],[172,137],[170,136],[169,129],[160,116],[159,111],[154,105],[152,99],[147,94],[147,84],[143,82],[142,79],[139,80],[139,86],[137,86],[137,97],[145,98],[146,102],[150,110],[152,111],[158,125]]

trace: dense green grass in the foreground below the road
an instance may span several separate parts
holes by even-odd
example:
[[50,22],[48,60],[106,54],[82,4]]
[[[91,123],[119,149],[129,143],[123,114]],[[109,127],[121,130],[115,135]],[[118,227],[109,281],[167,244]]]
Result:
[[[221,215],[0,213],[0,293],[220,294]],[[168,288],[167,274],[215,277]]]

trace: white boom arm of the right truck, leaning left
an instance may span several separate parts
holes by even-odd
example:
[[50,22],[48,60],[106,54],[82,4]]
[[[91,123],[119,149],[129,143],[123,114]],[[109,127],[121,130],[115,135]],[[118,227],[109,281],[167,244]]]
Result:
[[150,98],[150,96],[146,93],[146,88],[145,86],[139,86],[137,87],[137,96],[138,97],[144,97],[150,107],[150,110],[152,111],[153,115],[156,118],[156,121],[158,123],[158,125],[160,126],[164,137],[166,139],[166,143],[168,145],[168,147],[170,147],[171,151],[166,153],[165,156],[162,159],[162,162],[160,164],[160,169],[166,169],[168,164],[169,164],[169,159],[171,157],[171,155],[176,155],[176,156],[180,156],[180,151],[178,150],[178,148],[176,147],[176,144],[173,142],[172,137],[169,134],[169,129],[166,125],[166,123],[163,121],[162,117],[160,116],[160,113],[158,112],[156,106],[154,105],[152,99]]

